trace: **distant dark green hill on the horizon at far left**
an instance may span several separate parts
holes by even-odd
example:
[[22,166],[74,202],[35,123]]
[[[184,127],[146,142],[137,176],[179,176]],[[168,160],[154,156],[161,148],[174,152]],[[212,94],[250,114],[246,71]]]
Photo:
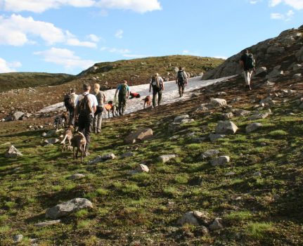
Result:
[[72,75],[46,72],[8,72],[0,74],[0,92],[11,89],[62,84],[72,77]]

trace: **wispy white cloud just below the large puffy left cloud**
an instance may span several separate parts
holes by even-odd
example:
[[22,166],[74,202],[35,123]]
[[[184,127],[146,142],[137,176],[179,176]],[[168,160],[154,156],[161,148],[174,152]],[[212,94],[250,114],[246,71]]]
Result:
[[75,52],[67,48],[51,48],[47,51],[38,51],[34,55],[43,56],[47,63],[55,63],[63,65],[66,70],[72,70],[75,67],[86,69],[96,63],[94,60],[83,60],[79,56],[75,56]]

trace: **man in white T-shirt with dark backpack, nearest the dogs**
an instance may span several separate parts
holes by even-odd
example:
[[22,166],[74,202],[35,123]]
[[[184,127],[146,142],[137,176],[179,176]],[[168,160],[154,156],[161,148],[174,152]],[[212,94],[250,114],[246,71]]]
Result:
[[86,138],[85,156],[89,155],[89,144],[91,143],[91,129],[93,127],[94,113],[97,109],[97,98],[90,94],[91,86],[83,84],[82,95],[79,95],[75,101],[75,117],[78,119],[78,131],[82,131]]

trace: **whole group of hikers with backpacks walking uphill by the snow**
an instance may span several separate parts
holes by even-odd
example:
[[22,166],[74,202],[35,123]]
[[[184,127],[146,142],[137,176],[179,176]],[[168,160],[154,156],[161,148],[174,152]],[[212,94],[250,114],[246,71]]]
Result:
[[[239,60],[240,66],[244,71],[245,83],[247,89],[251,90],[250,81],[252,72],[255,72],[255,60],[248,50],[243,51],[243,55]],[[188,75],[183,70],[183,67],[179,67],[179,71],[176,72],[176,84],[179,88],[179,96],[182,97],[184,88],[188,84]],[[162,91],[165,90],[165,84],[158,73],[150,79],[149,92],[153,89],[153,108],[161,104]],[[91,86],[89,84],[83,85],[83,93],[79,96],[75,93],[75,89],[71,89],[70,93],[65,96],[64,103],[69,113],[69,124],[77,124],[78,131],[82,131],[86,138],[85,156],[89,155],[89,143],[90,134],[93,131],[95,134],[101,133],[101,125],[103,112],[110,112],[114,115],[114,107],[117,107],[119,115],[124,115],[127,99],[140,98],[139,93],[131,92],[127,85],[127,80],[123,80],[122,83],[117,86],[115,91],[114,101],[108,101],[106,104],[105,93],[100,90],[100,84],[94,84],[94,91],[90,93]],[[118,100],[117,100],[118,98]]]

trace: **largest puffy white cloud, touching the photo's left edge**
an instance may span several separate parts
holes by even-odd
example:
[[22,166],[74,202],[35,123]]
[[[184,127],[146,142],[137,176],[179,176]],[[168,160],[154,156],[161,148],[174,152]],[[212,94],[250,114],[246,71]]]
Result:
[[[96,44],[89,41],[79,41],[75,35],[61,30],[50,22],[34,20],[32,17],[11,15],[5,18],[0,15],[0,44],[22,46],[34,44],[34,38],[40,38],[46,44],[65,43],[72,46],[86,46],[95,48]],[[31,39],[30,39],[31,38]]]

